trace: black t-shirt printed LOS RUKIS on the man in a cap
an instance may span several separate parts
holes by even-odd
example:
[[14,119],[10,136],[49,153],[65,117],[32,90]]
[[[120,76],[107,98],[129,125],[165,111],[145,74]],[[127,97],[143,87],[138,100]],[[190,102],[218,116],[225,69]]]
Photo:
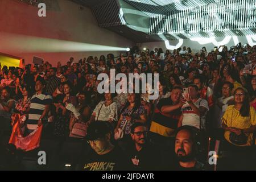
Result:
[[98,155],[95,151],[82,156],[77,169],[82,171],[125,171],[131,164],[119,147],[114,147],[108,154]]

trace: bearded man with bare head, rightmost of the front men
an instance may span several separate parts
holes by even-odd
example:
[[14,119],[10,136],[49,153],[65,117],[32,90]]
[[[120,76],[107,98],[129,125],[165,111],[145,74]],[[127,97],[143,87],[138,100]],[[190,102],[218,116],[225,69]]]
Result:
[[201,171],[204,164],[196,160],[197,142],[199,140],[198,129],[193,126],[182,126],[176,131],[175,155],[176,159],[172,170],[177,171]]

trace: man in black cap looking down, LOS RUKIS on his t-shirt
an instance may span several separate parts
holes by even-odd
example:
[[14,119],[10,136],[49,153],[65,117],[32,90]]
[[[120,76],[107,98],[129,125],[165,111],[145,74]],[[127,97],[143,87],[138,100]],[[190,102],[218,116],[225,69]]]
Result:
[[92,147],[80,160],[80,170],[119,171],[129,169],[129,159],[119,147],[111,143],[112,130],[108,123],[95,121],[87,129],[86,140]]

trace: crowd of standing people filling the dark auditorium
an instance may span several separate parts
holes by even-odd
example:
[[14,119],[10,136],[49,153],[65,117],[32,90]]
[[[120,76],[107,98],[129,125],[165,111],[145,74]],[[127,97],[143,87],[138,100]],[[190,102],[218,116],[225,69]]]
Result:
[[[24,138],[43,127],[52,139],[87,141],[92,150],[76,169],[92,171],[213,169],[212,139],[223,169],[256,169],[256,46],[134,48],[53,64],[1,66],[0,137],[13,136],[14,126]],[[158,73],[158,88],[100,94],[97,77],[110,69]]]

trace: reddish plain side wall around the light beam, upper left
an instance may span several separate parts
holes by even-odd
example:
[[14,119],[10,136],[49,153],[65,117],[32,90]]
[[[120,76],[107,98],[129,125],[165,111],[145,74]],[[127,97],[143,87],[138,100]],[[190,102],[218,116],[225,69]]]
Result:
[[[57,3],[59,7],[47,5],[47,17],[40,18],[38,7],[27,5],[19,0],[1,0],[0,52],[23,57],[26,63],[31,63],[32,56],[35,55],[43,57],[53,65],[56,65],[57,61],[65,63],[71,56],[79,60],[89,55],[100,56],[110,52],[45,53],[39,51],[25,53],[22,49],[22,42],[16,41],[19,46],[10,46],[10,38],[3,32],[13,34],[14,39],[15,35],[30,35],[113,47],[133,46],[130,40],[98,27],[90,9],[84,7],[83,10],[79,10],[79,5],[68,0],[59,0]],[[119,52],[113,53],[118,55]]]

